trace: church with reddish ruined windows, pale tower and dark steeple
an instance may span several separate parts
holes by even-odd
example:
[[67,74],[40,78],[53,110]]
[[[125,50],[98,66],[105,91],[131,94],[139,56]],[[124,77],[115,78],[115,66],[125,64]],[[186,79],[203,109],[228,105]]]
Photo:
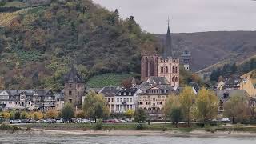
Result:
[[170,86],[179,86],[179,58],[174,57],[169,23],[163,54],[142,54],[142,81],[145,82],[152,76],[165,77]]

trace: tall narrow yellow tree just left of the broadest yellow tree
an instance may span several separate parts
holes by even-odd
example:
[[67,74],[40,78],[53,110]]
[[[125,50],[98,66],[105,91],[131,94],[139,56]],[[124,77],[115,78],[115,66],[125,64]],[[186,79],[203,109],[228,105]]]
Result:
[[179,102],[182,106],[184,117],[186,118],[187,125],[190,127],[190,118],[192,107],[194,106],[194,93],[191,87],[186,86],[182,93],[179,94]]

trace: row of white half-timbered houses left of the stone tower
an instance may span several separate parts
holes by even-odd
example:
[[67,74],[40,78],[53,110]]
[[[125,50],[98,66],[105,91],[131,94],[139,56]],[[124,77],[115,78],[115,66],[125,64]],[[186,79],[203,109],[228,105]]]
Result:
[[41,110],[56,107],[56,97],[52,90],[1,90],[1,110]]

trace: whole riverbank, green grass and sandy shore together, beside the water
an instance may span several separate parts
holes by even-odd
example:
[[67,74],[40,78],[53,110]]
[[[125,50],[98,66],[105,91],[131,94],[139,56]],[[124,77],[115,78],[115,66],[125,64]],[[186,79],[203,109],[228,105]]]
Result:
[[142,130],[136,130],[136,124],[103,124],[102,130],[94,130],[94,124],[21,124],[6,125],[1,134],[79,134],[103,136],[175,136],[175,137],[239,137],[256,136],[256,126],[218,125],[190,128],[175,128],[170,124],[144,125]]

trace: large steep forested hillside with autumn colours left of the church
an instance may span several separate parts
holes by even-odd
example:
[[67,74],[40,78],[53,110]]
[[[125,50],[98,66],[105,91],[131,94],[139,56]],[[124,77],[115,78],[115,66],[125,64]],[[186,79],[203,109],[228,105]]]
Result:
[[24,0],[17,6],[0,14],[8,18],[0,23],[2,88],[62,90],[72,64],[85,81],[97,74],[139,73],[141,51],[159,47],[133,17],[122,20],[118,10],[90,0]]

